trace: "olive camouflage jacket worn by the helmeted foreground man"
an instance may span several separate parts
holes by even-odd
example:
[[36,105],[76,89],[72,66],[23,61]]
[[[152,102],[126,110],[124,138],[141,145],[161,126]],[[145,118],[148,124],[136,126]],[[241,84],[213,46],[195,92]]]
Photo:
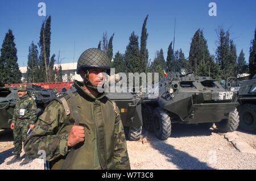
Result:
[[[65,98],[71,109],[67,115],[64,105],[53,100],[39,117],[27,138],[24,149],[33,157],[38,151],[46,153],[51,169],[130,169],[125,133],[118,107],[101,95],[95,98],[75,83],[75,99],[80,114],[80,125],[85,128],[85,141],[69,148],[68,134],[74,124],[71,99]],[[73,150],[71,162],[67,155]]]

